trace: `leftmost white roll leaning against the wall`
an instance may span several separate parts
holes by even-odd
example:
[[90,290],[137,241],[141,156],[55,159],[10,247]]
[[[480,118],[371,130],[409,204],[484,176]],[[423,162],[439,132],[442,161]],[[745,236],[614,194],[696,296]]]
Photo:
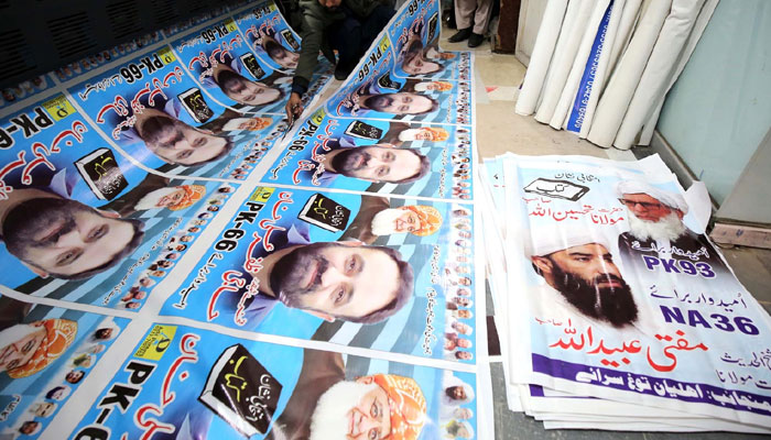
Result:
[[530,65],[524,75],[519,98],[517,98],[514,111],[518,114],[529,116],[535,111],[541,89],[546,80],[549,64],[557,44],[557,36],[560,36],[566,9],[567,0],[552,0],[546,4],[539,34],[535,38],[535,45],[533,46],[533,54],[530,57]]

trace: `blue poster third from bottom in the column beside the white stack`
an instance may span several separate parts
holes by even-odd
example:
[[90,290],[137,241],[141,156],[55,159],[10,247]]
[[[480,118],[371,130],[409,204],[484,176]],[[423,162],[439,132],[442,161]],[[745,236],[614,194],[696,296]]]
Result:
[[262,180],[470,200],[470,129],[328,117],[302,121]]

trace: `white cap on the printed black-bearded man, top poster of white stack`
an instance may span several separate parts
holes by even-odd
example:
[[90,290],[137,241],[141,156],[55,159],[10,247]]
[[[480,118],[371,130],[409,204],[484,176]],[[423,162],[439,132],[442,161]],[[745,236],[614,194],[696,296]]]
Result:
[[601,244],[608,251],[611,249],[605,234],[582,222],[534,229],[532,233],[525,237],[525,253],[528,257],[545,256],[554,252],[593,243]]

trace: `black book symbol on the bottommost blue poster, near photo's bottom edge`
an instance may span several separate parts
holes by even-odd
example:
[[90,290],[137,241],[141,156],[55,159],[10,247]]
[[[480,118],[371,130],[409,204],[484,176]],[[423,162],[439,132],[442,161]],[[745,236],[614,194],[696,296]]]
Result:
[[268,432],[281,388],[246,346],[235,344],[219,355],[198,400],[249,438]]

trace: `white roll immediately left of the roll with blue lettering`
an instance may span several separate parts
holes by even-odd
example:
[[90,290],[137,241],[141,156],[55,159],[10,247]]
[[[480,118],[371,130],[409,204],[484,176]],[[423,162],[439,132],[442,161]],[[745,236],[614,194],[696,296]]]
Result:
[[586,69],[586,62],[589,59],[589,54],[591,53],[591,46],[597,38],[599,25],[602,22],[605,12],[608,10],[608,3],[610,3],[610,0],[597,0],[589,15],[589,20],[584,26],[584,34],[582,35],[576,56],[573,58],[571,73],[567,76],[567,80],[565,80],[565,87],[562,89],[560,100],[554,108],[552,120],[549,122],[554,129],[562,130],[566,124],[571,107],[576,99],[580,78],[584,76],[584,70]]

